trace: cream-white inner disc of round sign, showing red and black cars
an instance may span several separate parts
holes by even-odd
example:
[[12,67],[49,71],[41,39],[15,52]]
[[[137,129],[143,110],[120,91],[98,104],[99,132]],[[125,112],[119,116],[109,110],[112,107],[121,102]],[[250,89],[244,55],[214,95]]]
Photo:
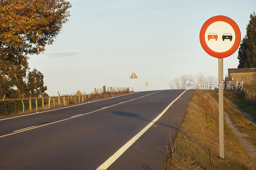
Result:
[[216,21],[208,26],[204,38],[211,50],[222,53],[234,45],[236,34],[233,27],[227,22]]

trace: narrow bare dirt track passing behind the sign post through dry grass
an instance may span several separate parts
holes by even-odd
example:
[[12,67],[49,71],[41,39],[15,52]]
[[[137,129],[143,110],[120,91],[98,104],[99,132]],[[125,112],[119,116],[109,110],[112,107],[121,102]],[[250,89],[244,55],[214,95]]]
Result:
[[[206,93],[206,94],[215,102],[217,107],[219,107],[218,102],[216,100],[214,100],[213,97],[209,93]],[[233,107],[233,105],[231,105],[231,106]],[[253,145],[252,142],[248,139],[248,135],[242,133],[235,126],[234,122],[232,122],[230,116],[228,115],[228,113],[225,110],[224,110],[224,120],[225,120],[226,124],[228,125],[228,128],[234,133],[238,142],[244,147],[245,152],[254,160],[254,162],[256,162],[256,146]]]

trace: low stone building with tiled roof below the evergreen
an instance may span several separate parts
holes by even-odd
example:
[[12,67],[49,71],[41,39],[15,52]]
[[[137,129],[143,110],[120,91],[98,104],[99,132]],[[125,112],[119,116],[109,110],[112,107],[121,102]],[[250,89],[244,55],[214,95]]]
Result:
[[234,81],[244,81],[244,86],[256,85],[256,68],[228,69],[228,76]]

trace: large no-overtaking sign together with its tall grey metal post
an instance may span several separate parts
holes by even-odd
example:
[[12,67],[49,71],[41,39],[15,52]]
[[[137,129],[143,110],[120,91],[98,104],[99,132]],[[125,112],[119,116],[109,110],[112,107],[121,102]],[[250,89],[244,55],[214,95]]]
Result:
[[[223,82],[223,58],[236,52],[240,45],[241,33],[236,22],[225,16],[215,16],[203,24],[200,30],[200,43],[204,51],[218,58],[219,84]],[[223,89],[219,85],[219,142],[220,157],[224,158],[224,116]]]

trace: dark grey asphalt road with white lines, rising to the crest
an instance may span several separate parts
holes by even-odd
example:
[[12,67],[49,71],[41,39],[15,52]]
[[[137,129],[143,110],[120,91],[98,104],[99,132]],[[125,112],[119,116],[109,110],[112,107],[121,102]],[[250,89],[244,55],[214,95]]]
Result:
[[194,92],[184,91],[137,92],[1,117],[0,169],[160,169],[164,144]]

